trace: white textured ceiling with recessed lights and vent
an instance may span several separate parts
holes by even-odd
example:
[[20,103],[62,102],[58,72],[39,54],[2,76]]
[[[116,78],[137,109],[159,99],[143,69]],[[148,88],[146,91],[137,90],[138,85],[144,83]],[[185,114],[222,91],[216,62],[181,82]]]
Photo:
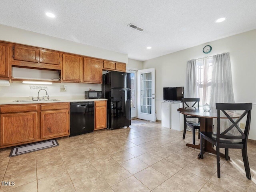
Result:
[[0,0],[0,23],[144,61],[255,29],[256,1]]

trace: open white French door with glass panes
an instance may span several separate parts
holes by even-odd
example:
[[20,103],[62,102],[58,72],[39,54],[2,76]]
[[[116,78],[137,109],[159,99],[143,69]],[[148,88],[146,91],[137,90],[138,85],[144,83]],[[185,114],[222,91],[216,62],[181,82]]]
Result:
[[156,121],[155,68],[138,70],[138,118]]

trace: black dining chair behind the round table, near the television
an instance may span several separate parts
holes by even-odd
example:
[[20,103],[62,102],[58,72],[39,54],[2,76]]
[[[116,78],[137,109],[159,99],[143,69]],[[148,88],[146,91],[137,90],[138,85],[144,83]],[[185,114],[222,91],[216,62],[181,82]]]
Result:
[[[192,102],[192,105],[189,106],[187,102]],[[194,102],[194,103],[193,103]],[[197,106],[199,108],[199,102],[200,98],[182,98],[182,106],[185,107],[194,107]],[[188,121],[189,118],[197,118],[198,122],[196,121]],[[195,144],[196,140],[196,129],[198,129],[198,139],[200,137],[199,131],[200,131],[200,117],[195,116],[189,116],[184,114],[184,131],[183,131],[183,139],[185,139],[187,126],[192,128],[192,134],[193,134],[193,144]]]

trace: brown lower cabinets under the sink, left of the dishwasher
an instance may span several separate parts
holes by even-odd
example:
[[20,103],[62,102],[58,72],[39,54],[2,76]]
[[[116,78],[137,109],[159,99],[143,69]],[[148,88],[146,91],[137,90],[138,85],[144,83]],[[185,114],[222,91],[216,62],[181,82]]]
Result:
[[70,103],[0,106],[0,148],[69,136]]

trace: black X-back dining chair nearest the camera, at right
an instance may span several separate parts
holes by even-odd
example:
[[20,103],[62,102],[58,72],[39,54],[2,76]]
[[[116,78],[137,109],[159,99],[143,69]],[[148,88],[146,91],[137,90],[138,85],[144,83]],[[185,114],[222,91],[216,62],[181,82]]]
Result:
[[[250,122],[251,122],[251,110],[252,103],[239,103],[239,104],[230,104],[230,103],[216,103],[217,109],[217,134],[214,135],[213,132],[200,132],[200,153],[201,158],[203,159],[204,151],[204,140],[211,142],[216,146],[216,156],[217,156],[217,174],[218,178],[220,178],[220,148],[225,148],[225,158],[228,160],[228,149],[236,148],[242,149],[242,157],[244,160],[244,168],[246,172],[246,177],[251,179],[250,166],[248,162],[247,156],[247,140],[250,130]],[[235,110],[244,112],[242,115],[234,121],[226,110]],[[225,116],[230,120],[231,126],[228,128],[222,128],[223,132],[220,133],[220,111],[222,111]],[[238,123],[242,118],[247,114],[246,125],[244,132],[238,126]]]

